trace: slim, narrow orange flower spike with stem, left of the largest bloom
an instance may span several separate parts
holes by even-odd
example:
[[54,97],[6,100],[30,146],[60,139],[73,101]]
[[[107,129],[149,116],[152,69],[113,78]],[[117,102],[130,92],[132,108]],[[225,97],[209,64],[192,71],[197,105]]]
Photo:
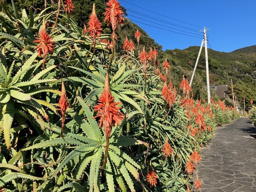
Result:
[[66,113],[67,108],[69,107],[66,89],[65,89],[65,85],[64,85],[63,81],[61,83],[61,95],[60,95],[60,100],[59,100],[58,105],[60,107],[58,110],[61,110],[61,114],[62,114],[62,119],[61,119],[62,124],[61,124],[61,133],[60,133],[60,137],[62,137],[63,129],[65,126],[65,119],[66,119],[65,113]]

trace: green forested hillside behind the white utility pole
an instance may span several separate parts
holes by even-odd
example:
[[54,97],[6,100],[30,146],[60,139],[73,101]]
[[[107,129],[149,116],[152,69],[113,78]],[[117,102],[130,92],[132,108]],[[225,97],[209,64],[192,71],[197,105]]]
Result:
[[[164,53],[166,57],[178,63],[190,78],[199,48],[198,46],[192,46],[184,50],[166,50]],[[208,49],[208,56],[210,83],[216,85],[227,84],[231,97],[230,80],[232,79],[237,100],[242,104],[245,95],[246,107],[251,106],[251,99],[256,100],[256,55],[226,53]],[[199,59],[197,76],[201,76],[206,81],[204,48]]]

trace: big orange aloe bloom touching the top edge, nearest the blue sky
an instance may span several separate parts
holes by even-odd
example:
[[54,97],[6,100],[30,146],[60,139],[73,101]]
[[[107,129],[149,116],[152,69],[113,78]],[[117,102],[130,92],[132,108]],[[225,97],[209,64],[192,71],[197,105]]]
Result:
[[112,30],[115,31],[118,23],[121,25],[124,23],[124,19],[122,17],[123,11],[120,7],[120,3],[116,0],[109,0],[106,5],[108,7],[105,8],[104,21],[108,23],[108,26],[111,25]]

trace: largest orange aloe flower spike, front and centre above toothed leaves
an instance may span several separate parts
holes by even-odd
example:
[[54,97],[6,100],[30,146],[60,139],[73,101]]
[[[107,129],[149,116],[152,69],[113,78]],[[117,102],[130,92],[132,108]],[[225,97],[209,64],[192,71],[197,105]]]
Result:
[[119,111],[121,107],[116,106],[120,102],[114,102],[114,100],[110,93],[107,73],[104,90],[98,99],[98,105],[94,106],[94,111],[98,112],[94,118],[100,117],[99,126],[103,126],[107,138],[110,136],[112,126],[117,126],[124,119],[124,115]]

